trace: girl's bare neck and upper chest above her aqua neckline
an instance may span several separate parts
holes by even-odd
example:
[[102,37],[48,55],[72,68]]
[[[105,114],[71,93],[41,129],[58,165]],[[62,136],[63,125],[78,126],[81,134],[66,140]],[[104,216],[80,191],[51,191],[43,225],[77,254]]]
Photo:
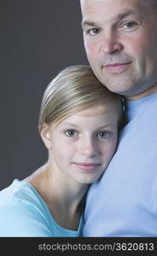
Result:
[[65,183],[60,177],[53,177],[53,173],[48,170],[48,165],[42,166],[25,180],[41,195],[60,226],[77,230],[87,184]]

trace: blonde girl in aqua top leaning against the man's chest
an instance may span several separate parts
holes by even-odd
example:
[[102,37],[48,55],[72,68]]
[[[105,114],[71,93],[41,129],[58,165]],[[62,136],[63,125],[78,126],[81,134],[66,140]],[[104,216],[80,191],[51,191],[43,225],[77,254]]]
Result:
[[65,68],[42,98],[39,132],[48,162],[0,192],[0,236],[81,236],[90,183],[115,154],[121,96],[88,66]]

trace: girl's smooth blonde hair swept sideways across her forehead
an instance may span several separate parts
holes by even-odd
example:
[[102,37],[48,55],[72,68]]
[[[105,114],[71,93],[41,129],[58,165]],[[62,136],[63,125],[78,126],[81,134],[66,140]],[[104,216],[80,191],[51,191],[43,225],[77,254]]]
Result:
[[121,96],[101,84],[91,67],[86,65],[67,67],[48,84],[43,94],[39,131],[44,122],[58,123],[70,115],[106,104],[108,101],[115,104],[121,117]]

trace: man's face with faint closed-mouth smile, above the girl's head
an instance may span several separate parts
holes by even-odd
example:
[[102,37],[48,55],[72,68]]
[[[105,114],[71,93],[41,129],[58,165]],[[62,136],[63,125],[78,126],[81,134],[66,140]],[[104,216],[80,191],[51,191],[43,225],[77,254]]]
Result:
[[[81,0],[87,59],[109,90],[138,98],[157,83],[157,8],[146,0]],[[154,90],[152,91],[152,89]],[[151,93],[157,91],[157,85]]]

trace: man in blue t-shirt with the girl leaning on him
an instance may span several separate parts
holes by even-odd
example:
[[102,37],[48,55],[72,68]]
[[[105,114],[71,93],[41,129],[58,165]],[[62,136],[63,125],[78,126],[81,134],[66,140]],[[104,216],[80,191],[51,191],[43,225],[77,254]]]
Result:
[[83,236],[157,236],[157,1],[81,0],[88,61],[128,124],[87,195]]

